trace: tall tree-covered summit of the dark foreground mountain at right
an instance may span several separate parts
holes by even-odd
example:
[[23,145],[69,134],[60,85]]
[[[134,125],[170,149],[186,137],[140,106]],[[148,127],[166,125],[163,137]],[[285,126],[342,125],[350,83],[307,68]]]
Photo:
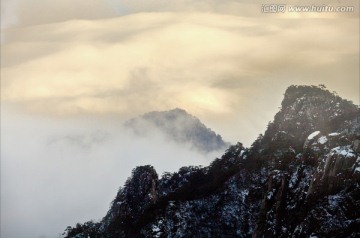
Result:
[[352,102],[329,92],[324,85],[292,85],[286,90],[281,106],[262,138],[265,150],[291,146],[300,151],[310,133],[347,130],[349,124],[355,125],[351,120],[359,114]]

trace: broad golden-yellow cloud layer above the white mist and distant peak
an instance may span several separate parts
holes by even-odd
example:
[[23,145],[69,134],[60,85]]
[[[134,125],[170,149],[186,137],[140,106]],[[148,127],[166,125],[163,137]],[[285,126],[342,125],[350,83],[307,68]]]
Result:
[[[254,122],[251,133],[260,133],[290,84],[321,83],[358,101],[357,25],[351,18],[138,13],[9,29],[3,101],[56,116],[129,118],[180,107],[225,134],[231,129],[216,127],[224,118]],[[246,119],[269,105],[266,122]]]

